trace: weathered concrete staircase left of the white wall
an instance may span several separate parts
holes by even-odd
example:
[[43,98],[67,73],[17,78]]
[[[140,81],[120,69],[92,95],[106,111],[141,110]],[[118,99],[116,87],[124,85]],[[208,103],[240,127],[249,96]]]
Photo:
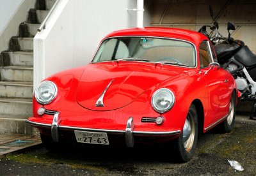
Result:
[[0,133],[32,135],[26,124],[32,115],[33,37],[56,0],[37,0],[19,36],[10,39],[9,50],[1,52]]

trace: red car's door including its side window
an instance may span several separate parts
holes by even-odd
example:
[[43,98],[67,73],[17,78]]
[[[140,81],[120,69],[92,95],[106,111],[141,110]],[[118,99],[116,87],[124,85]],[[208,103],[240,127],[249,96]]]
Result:
[[[208,105],[206,107],[206,127],[214,125],[228,114],[230,89],[229,73],[216,63],[216,55],[209,41],[202,41],[199,48],[200,68],[207,84]],[[214,66],[213,66],[214,65]]]

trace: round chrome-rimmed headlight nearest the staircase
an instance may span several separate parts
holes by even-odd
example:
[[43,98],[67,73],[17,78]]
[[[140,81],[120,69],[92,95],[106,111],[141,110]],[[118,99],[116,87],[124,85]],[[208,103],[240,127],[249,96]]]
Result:
[[35,98],[42,105],[47,105],[52,102],[57,96],[57,86],[51,81],[43,81],[36,86]]

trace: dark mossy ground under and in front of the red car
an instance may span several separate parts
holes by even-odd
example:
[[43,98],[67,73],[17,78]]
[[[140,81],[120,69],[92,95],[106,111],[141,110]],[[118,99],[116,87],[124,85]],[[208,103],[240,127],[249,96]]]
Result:
[[[237,116],[234,130],[200,135],[195,157],[175,163],[161,145],[102,147],[90,145],[65,152],[48,152],[41,145],[10,154],[0,161],[0,175],[255,175],[256,122]],[[236,171],[228,160],[238,161]]]

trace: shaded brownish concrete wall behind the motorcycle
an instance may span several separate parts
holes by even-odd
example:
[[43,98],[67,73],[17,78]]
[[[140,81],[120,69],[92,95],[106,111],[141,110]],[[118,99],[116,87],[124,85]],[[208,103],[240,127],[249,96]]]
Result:
[[[218,16],[220,32],[227,36],[227,22],[233,22],[237,30],[232,37],[243,40],[256,54],[256,1],[253,0],[177,0],[170,1],[163,17],[168,0],[153,1],[152,26],[181,27],[191,30],[211,24],[209,5],[212,5],[214,17]],[[161,18],[163,20],[161,21]]]

